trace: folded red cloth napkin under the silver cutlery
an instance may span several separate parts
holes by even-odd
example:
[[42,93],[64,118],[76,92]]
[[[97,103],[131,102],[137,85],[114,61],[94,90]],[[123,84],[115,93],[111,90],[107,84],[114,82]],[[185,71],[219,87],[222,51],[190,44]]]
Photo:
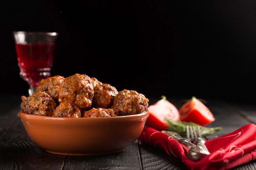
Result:
[[173,137],[146,127],[139,140],[182,160],[190,170],[228,170],[256,159],[256,125],[247,124],[234,132],[205,142],[210,155],[192,161]]

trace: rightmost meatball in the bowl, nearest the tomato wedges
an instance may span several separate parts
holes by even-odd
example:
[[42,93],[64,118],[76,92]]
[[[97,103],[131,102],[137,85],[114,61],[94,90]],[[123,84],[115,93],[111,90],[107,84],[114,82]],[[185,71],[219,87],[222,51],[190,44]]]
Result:
[[115,96],[111,108],[118,116],[134,115],[145,112],[148,109],[148,101],[143,94],[125,89]]

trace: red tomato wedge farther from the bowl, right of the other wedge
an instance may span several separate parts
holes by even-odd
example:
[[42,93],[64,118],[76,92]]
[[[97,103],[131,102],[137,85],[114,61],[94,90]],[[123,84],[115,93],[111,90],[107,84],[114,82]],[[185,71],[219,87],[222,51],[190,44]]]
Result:
[[193,122],[201,126],[215,120],[209,108],[194,96],[180,107],[179,112],[181,121]]

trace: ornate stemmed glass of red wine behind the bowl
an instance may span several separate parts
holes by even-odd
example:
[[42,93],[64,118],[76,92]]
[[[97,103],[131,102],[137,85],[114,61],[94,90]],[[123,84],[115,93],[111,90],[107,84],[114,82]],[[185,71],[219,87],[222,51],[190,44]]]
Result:
[[51,76],[57,32],[14,31],[20,77],[29,84],[29,95],[42,79]]

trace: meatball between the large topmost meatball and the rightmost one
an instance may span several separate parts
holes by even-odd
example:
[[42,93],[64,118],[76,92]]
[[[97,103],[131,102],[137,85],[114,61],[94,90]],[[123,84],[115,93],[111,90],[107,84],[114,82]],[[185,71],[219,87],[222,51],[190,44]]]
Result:
[[94,87],[94,96],[92,98],[92,107],[94,108],[110,108],[113,104],[114,97],[118,91],[110,84],[97,84]]

